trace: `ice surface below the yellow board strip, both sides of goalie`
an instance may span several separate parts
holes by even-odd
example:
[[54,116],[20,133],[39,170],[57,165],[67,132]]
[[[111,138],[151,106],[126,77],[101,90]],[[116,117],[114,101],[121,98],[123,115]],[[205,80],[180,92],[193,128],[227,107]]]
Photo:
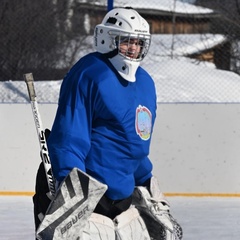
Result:
[[[240,199],[168,197],[173,216],[181,223],[184,240],[240,239]],[[0,239],[33,240],[31,197],[0,197]]]

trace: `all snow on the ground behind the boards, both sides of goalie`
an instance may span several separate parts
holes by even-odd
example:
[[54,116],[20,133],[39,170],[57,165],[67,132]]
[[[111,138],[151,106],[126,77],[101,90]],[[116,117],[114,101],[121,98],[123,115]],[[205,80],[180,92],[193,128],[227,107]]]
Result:
[[[159,103],[239,103],[240,76],[180,60],[149,58],[143,67],[155,80]],[[151,68],[155,66],[154,68]],[[36,81],[40,103],[57,103],[62,80]],[[0,102],[27,103],[24,81],[0,82]]]

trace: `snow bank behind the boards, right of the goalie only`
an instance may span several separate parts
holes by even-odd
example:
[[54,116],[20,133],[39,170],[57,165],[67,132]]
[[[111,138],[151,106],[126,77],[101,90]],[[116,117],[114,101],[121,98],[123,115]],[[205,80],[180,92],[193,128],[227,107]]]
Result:
[[240,102],[240,76],[233,72],[178,60],[157,63],[157,69],[151,75],[160,103]]

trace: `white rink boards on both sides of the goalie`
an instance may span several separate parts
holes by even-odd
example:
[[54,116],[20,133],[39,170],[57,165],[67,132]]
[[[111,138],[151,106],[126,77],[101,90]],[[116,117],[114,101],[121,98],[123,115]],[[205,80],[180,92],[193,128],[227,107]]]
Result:
[[[56,104],[39,104],[51,128]],[[30,104],[0,104],[0,191],[34,191],[40,163]],[[150,158],[167,193],[240,192],[240,104],[158,104]]]

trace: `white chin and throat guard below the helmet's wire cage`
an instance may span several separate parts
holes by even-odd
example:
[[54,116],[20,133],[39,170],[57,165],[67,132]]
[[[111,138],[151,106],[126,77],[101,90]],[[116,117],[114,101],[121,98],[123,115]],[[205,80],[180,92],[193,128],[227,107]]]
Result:
[[118,71],[121,77],[129,82],[135,82],[135,73],[139,67],[139,62],[130,61],[118,54],[118,49],[104,53],[104,55],[112,63],[113,67]]

